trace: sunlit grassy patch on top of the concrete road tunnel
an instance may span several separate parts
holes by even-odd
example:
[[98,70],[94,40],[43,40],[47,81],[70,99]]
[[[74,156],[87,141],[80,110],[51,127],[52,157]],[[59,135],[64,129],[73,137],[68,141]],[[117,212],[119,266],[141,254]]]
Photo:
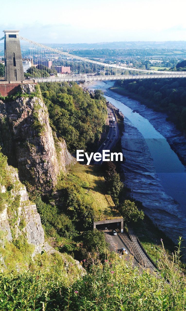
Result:
[[94,210],[95,220],[120,218],[112,198],[106,194],[104,177],[100,176],[100,165],[76,163],[63,179],[62,187],[72,186],[79,199]]

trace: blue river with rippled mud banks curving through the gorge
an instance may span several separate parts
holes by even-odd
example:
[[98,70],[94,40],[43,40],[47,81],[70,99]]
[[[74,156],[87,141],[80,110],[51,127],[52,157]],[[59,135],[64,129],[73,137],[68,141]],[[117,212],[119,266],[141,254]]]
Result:
[[96,81],[89,88],[104,91],[124,114],[122,169],[130,195],[143,203],[146,214],[174,241],[180,235],[186,240],[186,169],[169,144],[177,144],[185,155],[186,140],[165,114],[110,91],[113,84]]

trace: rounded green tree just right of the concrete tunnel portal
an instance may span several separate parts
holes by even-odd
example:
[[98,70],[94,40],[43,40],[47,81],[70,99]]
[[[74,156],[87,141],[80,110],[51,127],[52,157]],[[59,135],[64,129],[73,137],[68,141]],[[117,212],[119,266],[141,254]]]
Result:
[[123,206],[119,208],[119,212],[123,216],[124,223],[128,223],[130,221],[137,222],[138,219],[144,218],[144,212],[139,211],[134,202],[130,200],[125,200]]

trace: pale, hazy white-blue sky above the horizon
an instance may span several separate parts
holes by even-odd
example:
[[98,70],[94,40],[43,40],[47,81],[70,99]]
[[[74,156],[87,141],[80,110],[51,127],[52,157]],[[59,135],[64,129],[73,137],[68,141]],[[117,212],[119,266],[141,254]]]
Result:
[[41,43],[186,40],[185,0],[0,0],[0,8],[2,31]]

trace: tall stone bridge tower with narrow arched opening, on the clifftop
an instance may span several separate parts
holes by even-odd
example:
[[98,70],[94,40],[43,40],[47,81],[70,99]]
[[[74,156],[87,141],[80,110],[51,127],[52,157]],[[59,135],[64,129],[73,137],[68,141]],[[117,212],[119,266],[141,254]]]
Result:
[[24,80],[19,30],[4,30],[5,81]]

